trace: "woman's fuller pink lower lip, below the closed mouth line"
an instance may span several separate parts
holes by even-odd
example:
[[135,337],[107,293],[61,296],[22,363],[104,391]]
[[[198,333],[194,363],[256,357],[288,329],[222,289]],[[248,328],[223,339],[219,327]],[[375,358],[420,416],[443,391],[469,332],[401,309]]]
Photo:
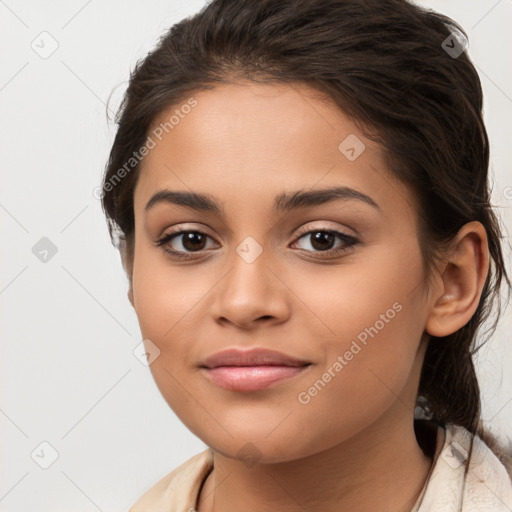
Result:
[[218,366],[203,368],[218,386],[233,391],[258,391],[276,382],[291,379],[302,373],[306,366]]

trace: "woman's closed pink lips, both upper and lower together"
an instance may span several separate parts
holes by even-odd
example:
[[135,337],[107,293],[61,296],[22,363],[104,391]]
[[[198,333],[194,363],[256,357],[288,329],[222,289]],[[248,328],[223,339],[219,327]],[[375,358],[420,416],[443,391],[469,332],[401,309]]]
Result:
[[201,363],[201,371],[218,386],[258,391],[303,373],[311,363],[267,349],[227,349]]

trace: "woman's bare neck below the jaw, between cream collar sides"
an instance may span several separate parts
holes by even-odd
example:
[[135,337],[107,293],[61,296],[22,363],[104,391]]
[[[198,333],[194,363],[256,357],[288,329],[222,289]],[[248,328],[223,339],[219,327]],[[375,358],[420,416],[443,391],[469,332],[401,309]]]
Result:
[[356,436],[299,460],[247,467],[214,452],[198,512],[408,512],[432,464],[410,416],[397,401]]

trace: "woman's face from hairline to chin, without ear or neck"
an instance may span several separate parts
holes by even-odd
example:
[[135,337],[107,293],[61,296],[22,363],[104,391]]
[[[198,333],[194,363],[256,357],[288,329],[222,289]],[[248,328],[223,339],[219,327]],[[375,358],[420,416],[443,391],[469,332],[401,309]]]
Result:
[[[429,306],[412,192],[304,85],[191,97],[155,120],[134,195],[132,300],[170,407],[214,450],[261,462],[412,422]],[[209,202],[146,208],[162,190]],[[261,389],[202,367],[256,347],[309,365]]]

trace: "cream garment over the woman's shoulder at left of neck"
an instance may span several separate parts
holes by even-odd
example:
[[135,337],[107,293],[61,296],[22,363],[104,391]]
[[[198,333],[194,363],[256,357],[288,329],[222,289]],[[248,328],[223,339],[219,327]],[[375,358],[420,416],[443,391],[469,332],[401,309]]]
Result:
[[129,512],[172,512],[192,510],[206,475],[213,468],[208,448],[185,461],[148,489]]

